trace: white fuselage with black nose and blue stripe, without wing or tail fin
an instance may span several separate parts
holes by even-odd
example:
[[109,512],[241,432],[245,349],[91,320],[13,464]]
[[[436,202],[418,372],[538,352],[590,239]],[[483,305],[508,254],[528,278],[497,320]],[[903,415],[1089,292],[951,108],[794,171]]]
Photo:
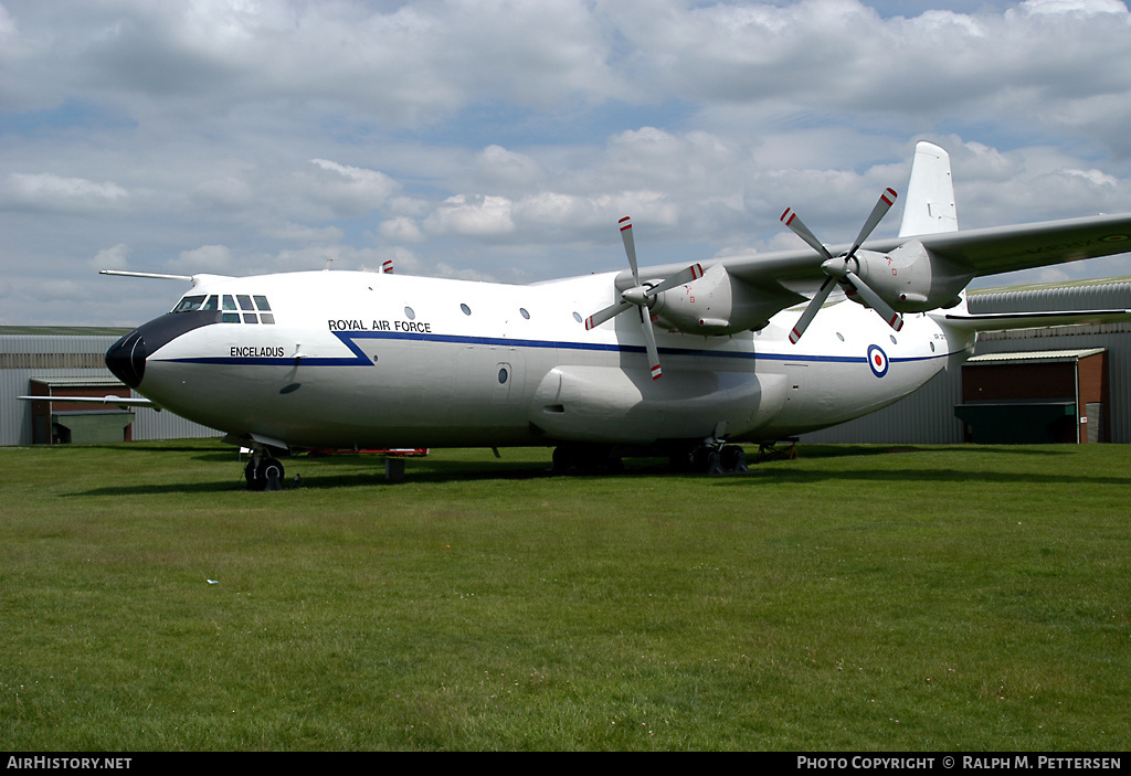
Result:
[[[368,272],[198,278],[178,308],[107,352],[162,407],[292,447],[772,442],[907,395],[972,346],[936,316],[896,333],[853,303],[804,340],[797,311],[759,332],[587,331],[614,273],[534,286]],[[671,291],[670,291],[671,293]],[[232,309],[226,309],[231,307]]]

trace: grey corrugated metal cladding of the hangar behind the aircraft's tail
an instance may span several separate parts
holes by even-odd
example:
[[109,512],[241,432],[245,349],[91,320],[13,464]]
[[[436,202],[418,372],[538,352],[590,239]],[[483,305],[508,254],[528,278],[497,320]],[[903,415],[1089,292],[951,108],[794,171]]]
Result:
[[[970,294],[972,313],[1131,309],[1131,282]],[[1112,442],[1131,443],[1131,323],[1055,326],[978,335],[975,354],[1018,350],[1107,348],[1112,406]],[[961,402],[961,368],[934,377],[916,393],[873,415],[821,431],[803,442],[834,444],[955,444],[962,442],[962,424],[955,417]]]

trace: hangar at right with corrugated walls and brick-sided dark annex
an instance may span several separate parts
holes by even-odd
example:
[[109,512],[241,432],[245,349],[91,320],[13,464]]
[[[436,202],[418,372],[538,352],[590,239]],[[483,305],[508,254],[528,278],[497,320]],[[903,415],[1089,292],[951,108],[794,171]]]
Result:
[[[972,313],[1131,309],[1131,281],[1116,279],[970,291],[967,304]],[[975,356],[962,366],[935,375],[906,399],[870,416],[805,434],[801,441],[834,444],[1131,443],[1131,322],[983,332],[978,334],[974,352]],[[988,395],[986,385],[982,392],[975,391],[978,381],[991,380],[990,375],[982,374],[988,369],[999,370],[991,382],[999,387],[1008,384],[1011,392],[994,393],[994,399],[981,400],[984,403],[978,409],[978,400],[972,401],[972,396]],[[1009,369],[1012,372],[1007,374]],[[1106,374],[1100,377],[1090,374],[1099,369]],[[994,400],[999,404],[995,413],[986,407]],[[1070,416],[1070,409],[1074,421],[1067,426],[1074,429],[1072,431],[1065,430],[1065,421],[1061,420]],[[1001,433],[987,437],[987,429],[994,426]],[[1048,428],[1052,426],[1056,427]],[[1027,436],[1034,427],[1046,429],[1047,435]]]

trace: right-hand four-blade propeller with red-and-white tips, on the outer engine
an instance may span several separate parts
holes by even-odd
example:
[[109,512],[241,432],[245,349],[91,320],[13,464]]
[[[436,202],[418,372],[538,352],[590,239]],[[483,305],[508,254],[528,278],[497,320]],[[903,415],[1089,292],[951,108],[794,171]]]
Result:
[[[824,300],[829,298],[829,294],[832,291],[832,286],[837,282],[846,287],[846,290],[851,289],[851,293],[860,295],[860,297],[867,304],[869,307],[874,309],[880,316],[887,322],[889,326],[899,331],[904,326],[904,316],[891,308],[887,302],[880,298],[880,295],[869,288],[867,284],[861,280],[856,271],[860,270],[860,262],[856,260],[856,252],[860,251],[861,245],[867,239],[872,230],[879,225],[883,217],[891,209],[891,206],[896,201],[895,189],[886,189],[882,194],[880,194],[879,201],[875,207],[872,208],[872,212],[869,215],[867,220],[864,221],[864,226],[861,227],[860,234],[856,236],[856,241],[848,249],[848,252],[834,256],[829,253],[829,250],[824,247],[824,244],[817,238],[804,221],[793,211],[792,208],[786,208],[785,212],[782,213],[782,223],[789,227],[795,235],[801,237],[805,243],[812,247],[814,251],[824,256],[824,261],[821,263],[821,270],[829,277],[824,279],[821,284],[820,289],[810,299],[809,306],[805,307],[805,312],[801,314],[797,319],[797,324],[789,332],[789,341],[794,345],[801,339],[801,335],[805,333],[805,329],[809,324],[813,322],[817,316],[817,311],[821,308]],[[855,270],[853,269],[855,267]]]

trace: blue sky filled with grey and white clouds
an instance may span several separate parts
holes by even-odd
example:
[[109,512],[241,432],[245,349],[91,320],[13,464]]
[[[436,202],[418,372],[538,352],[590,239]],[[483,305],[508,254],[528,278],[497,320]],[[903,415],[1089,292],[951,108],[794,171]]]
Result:
[[1129,128],[1121,0],[0,0],[0,324],[187,288],[100,269],[619,271],[624,215],[641,264],[847,243],[918,140],[961,228],[1125,212]]

